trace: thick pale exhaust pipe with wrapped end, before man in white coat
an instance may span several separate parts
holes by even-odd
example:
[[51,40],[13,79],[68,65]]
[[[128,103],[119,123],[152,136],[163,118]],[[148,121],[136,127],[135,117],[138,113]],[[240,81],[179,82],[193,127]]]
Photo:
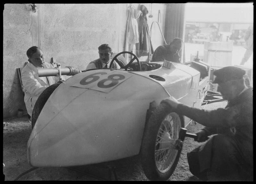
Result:
[[[62,75],[69,75],[71,73],[70,68],[62,67],[60,69]],[[38,68],[39,77],[58,76],[59,74],[58,68]]]

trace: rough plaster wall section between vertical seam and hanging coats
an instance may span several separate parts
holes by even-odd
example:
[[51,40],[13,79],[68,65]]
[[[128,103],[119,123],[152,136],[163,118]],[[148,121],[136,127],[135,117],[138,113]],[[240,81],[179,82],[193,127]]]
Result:
[[[123,51],[126,4],[40,4],[41,48],[48,62],[85,70],[108,43]],[[121,49],[120,49],[121,48]]]

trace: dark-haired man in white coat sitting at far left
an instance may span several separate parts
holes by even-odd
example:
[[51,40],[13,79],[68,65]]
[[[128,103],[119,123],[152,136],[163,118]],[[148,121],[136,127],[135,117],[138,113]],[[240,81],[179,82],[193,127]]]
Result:
[[25,93],[24,102],[29,116],[32,116],[32,111],[39,95],[57,81],[54,76],[38,76],[38,68],[54,68],[52,64],[44,62],[44,55],[40,48],[36,46],[30,47],[27,50],[27,56],[29,63],[22,69],[21,80]]

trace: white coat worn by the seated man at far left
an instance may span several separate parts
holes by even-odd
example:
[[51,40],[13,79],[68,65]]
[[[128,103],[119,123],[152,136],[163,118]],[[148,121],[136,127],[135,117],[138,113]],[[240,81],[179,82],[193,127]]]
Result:
[[[50,63],[44,63],[44,68],[54,68]],[[48,79],[48,82],[46,80]],[[25,93],[24,102],[28,114],[32,116],[34,105],[39,95],[50,85],[56,83],[53,76],[50,77],[39,77],[38,68],[31,63],[28,63],[21,73],[22,88]]]

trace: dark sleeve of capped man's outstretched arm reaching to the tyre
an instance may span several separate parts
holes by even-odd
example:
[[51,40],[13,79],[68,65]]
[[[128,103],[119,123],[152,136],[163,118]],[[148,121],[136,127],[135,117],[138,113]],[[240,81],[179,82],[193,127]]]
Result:
[[235,126],[239,108],[235,106],[207,111],[189,107],[185,104],[178,104],[177,112],[193,119],[205,127],[228,128]]

